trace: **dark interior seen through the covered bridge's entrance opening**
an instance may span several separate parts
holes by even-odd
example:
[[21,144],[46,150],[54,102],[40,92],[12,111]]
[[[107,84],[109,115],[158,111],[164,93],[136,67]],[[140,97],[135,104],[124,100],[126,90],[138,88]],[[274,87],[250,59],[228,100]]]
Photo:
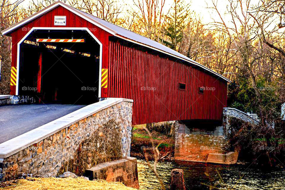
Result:
[[[36,42],[36,39],[85,42]],[[98,101],[99,44],[84,30],[33,31],[20,46],[19,95],[39,103],[90,104]]]

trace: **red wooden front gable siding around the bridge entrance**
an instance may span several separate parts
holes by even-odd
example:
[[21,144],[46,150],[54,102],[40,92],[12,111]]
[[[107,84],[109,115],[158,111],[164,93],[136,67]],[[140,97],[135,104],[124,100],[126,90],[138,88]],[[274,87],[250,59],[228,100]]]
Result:
[[[66,26],[54,26],[54,16],[62,15],[66,16]],[[21,26],[17,30],[13,31],[10,35],[12,36],[12,66],[17,66],[17,44],[18,42],[33,28],[33,27],[87,27],[94,36],[99,39],[102,43],[102,69],[108,68],[108,43],[109,36],[112,34],[100,29],[94,24],[82,19],[75,15],[73,12],[65,9],[64,7],[58,6],[44,15],[32,20],[31,22]],[[18,73],[17,73],[18,75]],[[11,86],[10,94],[16,94],[16,86]],[[107,88],[101,88],[101,97],[107,97]]]

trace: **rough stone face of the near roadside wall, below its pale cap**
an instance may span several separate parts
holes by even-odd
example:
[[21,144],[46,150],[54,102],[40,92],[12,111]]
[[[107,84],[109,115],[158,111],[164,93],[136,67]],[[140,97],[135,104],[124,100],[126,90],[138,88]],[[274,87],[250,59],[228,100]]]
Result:
[[49,177],[70,171],[82,175],[96,164],[129,156],[131,129],[132,102],[119,102],[0,158],[0,180],[23,173]]

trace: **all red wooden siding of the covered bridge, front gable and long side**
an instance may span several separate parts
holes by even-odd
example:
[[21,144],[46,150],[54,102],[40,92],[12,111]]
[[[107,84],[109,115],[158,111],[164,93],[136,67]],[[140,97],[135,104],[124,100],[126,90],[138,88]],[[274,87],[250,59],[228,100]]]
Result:
[[[66,16],[66,26],[60,27],[87,27],[102,43],[102,69],[108,69],[108,85],[101,88],[101,97],[133,99],[133,124],[221,120],[227,102],[226,81],[140,45],[121,40],[123,45],[112,34],[61,6],[11,32],[12,66],[17,66],[18,42],[32,27],[57,27],[53,25],[55,15]],[[179,83],[185,83],[186,89],[179,90]],[[202,86],[215,90],[200,94]],[[15,92],[16,86],[11,86],[11,94]]]

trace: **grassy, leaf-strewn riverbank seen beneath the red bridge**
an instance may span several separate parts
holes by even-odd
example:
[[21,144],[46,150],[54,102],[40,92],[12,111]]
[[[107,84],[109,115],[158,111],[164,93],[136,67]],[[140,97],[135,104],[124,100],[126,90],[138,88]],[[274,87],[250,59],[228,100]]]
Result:
[[[145,125],[134,126],[132,130],[131,156],[137,159],[145,159],[145,153],[149,160],[154,160],[151,138],[143,129]],[[172,161],[174,158],[174,138],[170,135],[152,131],[153,143],[158,146],[159,161]]]

